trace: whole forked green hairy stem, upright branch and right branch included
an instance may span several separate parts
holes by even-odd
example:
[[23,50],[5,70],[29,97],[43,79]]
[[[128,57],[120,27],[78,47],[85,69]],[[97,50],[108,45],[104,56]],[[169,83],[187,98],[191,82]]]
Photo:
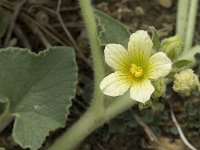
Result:
[[125,97],[125,99],[123,99],[123,97],[119,97],[116,98],[116,100],[114,100],[114,102],[108,107],[105,107],[104,97],[99,89],[100,82],[104,77],[104,68],[101,49],[97,38],[96,22],[90,0],[79,0],[79,2],[92,49],[95,79],[94,98],[92,105],[87,112],[68,131],[57,139],[49,150],[74,149],[95,129],[136,104],[130,98]]

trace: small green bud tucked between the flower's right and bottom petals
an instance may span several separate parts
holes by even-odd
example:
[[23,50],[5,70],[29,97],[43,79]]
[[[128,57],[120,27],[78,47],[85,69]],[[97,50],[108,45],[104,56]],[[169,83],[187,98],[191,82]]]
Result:
[[152,82],[152,84],[155,88],[155,91],[153,92],[153,95],[152,95],[153,98],[158,98],[165,94],[166,82],[167,82],[166,78],[160,78],[160,79]]

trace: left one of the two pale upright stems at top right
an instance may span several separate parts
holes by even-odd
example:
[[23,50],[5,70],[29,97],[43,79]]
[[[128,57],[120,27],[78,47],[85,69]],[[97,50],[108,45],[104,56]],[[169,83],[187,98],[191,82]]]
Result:
[[190,4],[190,0],[179,0],[178,1],[176,34],[178,34],[183,41],[185,41],[185,35],[186,35],[189,4]]

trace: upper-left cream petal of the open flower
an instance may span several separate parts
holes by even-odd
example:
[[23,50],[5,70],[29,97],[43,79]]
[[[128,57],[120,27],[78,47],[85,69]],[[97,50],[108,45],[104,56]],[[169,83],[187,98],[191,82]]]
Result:
[[105,61],[114,70],[123,70],[129,66],[128,51],[120,44],[108,44],[104,50]]

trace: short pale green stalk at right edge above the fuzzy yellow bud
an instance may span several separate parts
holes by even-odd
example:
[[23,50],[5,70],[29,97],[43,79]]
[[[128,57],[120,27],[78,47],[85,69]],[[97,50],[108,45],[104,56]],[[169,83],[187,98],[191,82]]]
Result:
[[178,60],[185,59],[185,60],[190,60],[190,61],[195,62],[194,56],[195,56],[197,53],[200,53],[200,45],[194,46],[192,49],[183,52],[183,53],[178,57]]

